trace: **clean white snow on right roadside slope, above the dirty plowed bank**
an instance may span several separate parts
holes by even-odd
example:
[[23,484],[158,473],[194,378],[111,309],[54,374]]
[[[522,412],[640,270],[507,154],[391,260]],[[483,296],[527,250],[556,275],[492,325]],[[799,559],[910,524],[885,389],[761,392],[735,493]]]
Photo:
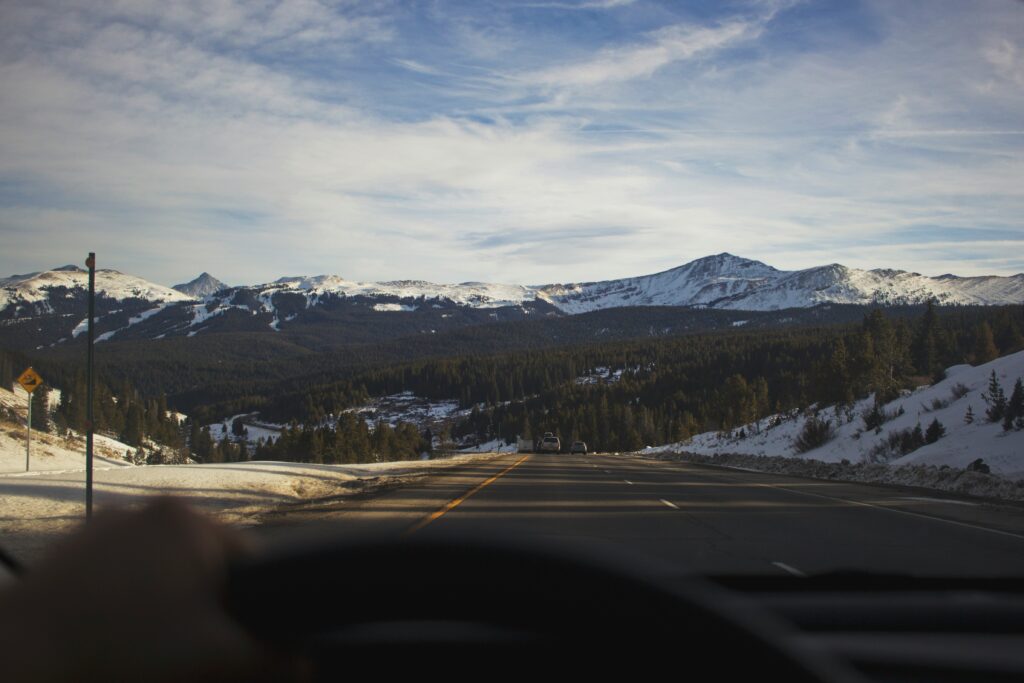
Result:
[[[1024,478],[1024,431],[1004,431],[1001,424],[989,423],[985,419],[987,404],[982,394],[988,390],[989,377],[995,375],[1007,396],[1013,391],[1014,382],[1024,376],[1024,351],[1013,353],[978,367],[954,366],[946,371],[946,378],[929,387],[900,397],[888,404],[889,414],[903,415],[882,425],[880,433],[865,430],[861,414],[871,407],[871,399],[858,401],[851,410],[834,408],[819,415],[837,425],[836,437],[823,446],[804,454],[798,454],[794,441],[807,420],[803,415],[773,416],[758,423],[744,425],[740,429],[722,434],[705,432],[688,441],[673,443],[655,449],[647,449],[644,454],[667,452],[687,452],[705,456],[716,454],[743,454],[752,456],[775,456],[816,460],[825,463],[869,462],[873,449],[886,441],[890,434],[904,429],[912,429],[920,424],[927,429],[933,420],[938,420],[946,429],[946,435],[935,443],[927,444],[902,457],[888,461],[889,465],[935,465],[966,468],[975,460],[985,461],[993,474],[1011,479]],[[954,387],[962,386],[966,393],[956,398]],[[973,409],[975,421],[966,424],[964,416],[968,407]],[[775,426],[772,426],[772,425]],[[743,436],[739,436],[743,434]]]

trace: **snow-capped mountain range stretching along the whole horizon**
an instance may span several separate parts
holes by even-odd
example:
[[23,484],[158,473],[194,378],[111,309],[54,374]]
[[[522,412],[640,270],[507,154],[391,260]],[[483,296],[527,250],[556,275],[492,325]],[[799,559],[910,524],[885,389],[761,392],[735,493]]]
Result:
[[[859,270],[834,263],[778,270],[717,254],[664,272],[564,285],[438,285],[422,281],[360,283],[338,275],[282,278],[226,287],[209,273],[174,289],[116,270],[96,274],[97,339],[194,336],[214,331],[280,331],[291,325],[384,325],[386,334],[420,334],[490,321],[572,315],[625,306],[690,306],[772,311],[824,303],[1018,304],[1024,273],[936,278],[903,270]],[[0,280],[0,321],[17,329],[17,345],[45,345],[84,330],[87,273],[76,266]],[[32,325],[29,326],[29,321]],[[31,329],[30,329],[31,327]],[[337,328],[333,328],[337,329]],[[382,328],[383,330],[383,328]]]

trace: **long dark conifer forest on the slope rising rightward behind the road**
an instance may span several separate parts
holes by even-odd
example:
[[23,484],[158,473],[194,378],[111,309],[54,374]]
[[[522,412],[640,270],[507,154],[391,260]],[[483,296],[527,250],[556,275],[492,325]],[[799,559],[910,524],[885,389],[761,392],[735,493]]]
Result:
[[[412,391],[458,398],[454,435],[511,440],[546,431],[591,449],[629,451],[730,429],[811,403],[849,403],[940,379],[944,368],[1024,348],[1020,307],[985,314],[890,319],[876,308],[854,327],[700,335],[569,349],[461,356],[361,373],[268,400],[265,419],[330,422],[371,396]],[[598,368],[615,382],[580,383]]]

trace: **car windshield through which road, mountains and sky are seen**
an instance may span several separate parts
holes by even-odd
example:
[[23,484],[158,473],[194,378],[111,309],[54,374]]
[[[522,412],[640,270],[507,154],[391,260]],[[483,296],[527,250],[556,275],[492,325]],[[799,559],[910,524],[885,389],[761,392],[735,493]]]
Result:
[[0,547],[1024,575],[1022,16],[4,2]]

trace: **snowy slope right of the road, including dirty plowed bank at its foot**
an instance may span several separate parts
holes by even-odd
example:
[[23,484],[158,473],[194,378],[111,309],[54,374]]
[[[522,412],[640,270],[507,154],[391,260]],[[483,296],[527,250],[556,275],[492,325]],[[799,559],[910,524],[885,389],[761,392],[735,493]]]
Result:
[[[836,427],[836,436],[824,445],[807,453],[798,453],[795,446],[797,435],[810,419],[808,412],[804,412],[771,416],[729,432],[705,432],[687,441],[647,447],[640,454],[658,456],[685,453],[709,458],[708,462],[715,462],[717,459],[725,464],[757,469],[782,466],[763,460],[758,465],[758,458],[752,457],[781,458],[807,461],[808,467],[786,469],[806,470],[809,476],[836,476],[837,472],[846,468],[848,475],[859,477],[863,476],[862,472],[870,470],[877,477],[898,479],[902,483],[916,481],[925,486],[937,485],[938,479],[958,475],[971,463],[982,459],[990,468],[991,474],[997,475],[988,478],[1009,480],[1011,488],[1008,490],[1020,492],[1020,496],[1014,494],[1012,498],[1024,498],[1024,430],[1005,431],[1000,423],[988,422],[985,417],[988,405],[982,395],[988,392],[992,371],[995,371],[995,376],[1009,397],[1014,383],[1018,378],[1024,377],[1024,351],[977,367],[965,365],[947,369],[946,378],[941,382],[922,387],[887,403],[885,412],[895,417],[883,424],[878,431],[866,429],[861,417],[873,404],[872,397],[859,400],[851,408],[822,409],[817,413],[818,418],[831,422]],[[971,424],[965,422],[969,407],[974,413],[974,422]],[[898,415],[901,411],[902,415]],[[933,420],[938,420],[946,430],[945,435],[934,443],[923,445],[903,456],[896,454],[895,457],[886,458],[879,455],[880,446],[894,432],[913,429],[919,424],[923,430],[927,430]],[[818,467],[821,463],[842,465],[843,468],[822,470]],[[949,468],[956,472],[949,473]],[[861,474],[857,474],[857,471]],[[944,474],[939,476],[936,471]],[[918,474],[910,476],[911,472]],[[999,490],[1005,488],[996,481],[992,485]],[[939,487],[948,488],[947,485]],[[984,490],[977,493],[986,495]],[[996,495],[994,489],[988,493]]]

